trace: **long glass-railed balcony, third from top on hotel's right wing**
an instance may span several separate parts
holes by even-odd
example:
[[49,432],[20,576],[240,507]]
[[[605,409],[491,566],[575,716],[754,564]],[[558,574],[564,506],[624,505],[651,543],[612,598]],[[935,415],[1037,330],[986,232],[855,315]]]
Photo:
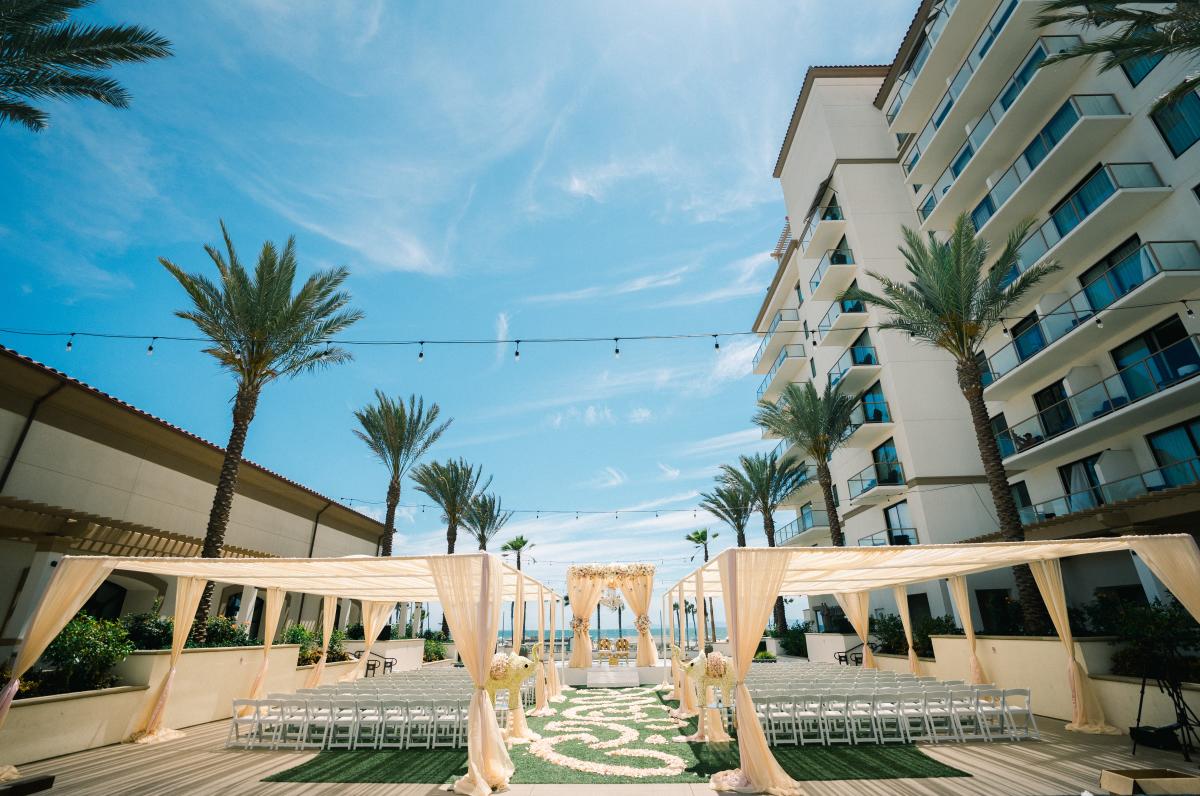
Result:
[[[1031,133],[1039,130],[1046,108],[1057,108],[1060,97],[1078,77],[1069,64],[1044,70],[1037,66],[1050,54],[1078,42],[1078,36],[1044,36],[1038,40],[1000,96],[967,131],[966,140],[950,157],[946,170],[934,181],[919,211],[923,226],[948,227],[954,216],[970,209],[967,203],[979,196],[978,191],[986,185],[988,178],[1004,169],[1006,163],[1013,162],[1016,151],[1028,144]],[[1129,116],[1121,114],[1116,100],[1110,95],[1108,98],[1116,107],[1118,124],[1128,121]],[[1061,114],[1075,110],[1076,119],[1112,115],[1106,106],[1097,107],[1090,95],[1070,97],[1064,106],[1069,106],[1070,110],[1061,110]],[[1069,126],[1068,120],[1060,118],[1061,114],[1046,125],[1057,136],[1056,140]],[[1042,136],[1038,132],[1032,145],[1038,144]]]

